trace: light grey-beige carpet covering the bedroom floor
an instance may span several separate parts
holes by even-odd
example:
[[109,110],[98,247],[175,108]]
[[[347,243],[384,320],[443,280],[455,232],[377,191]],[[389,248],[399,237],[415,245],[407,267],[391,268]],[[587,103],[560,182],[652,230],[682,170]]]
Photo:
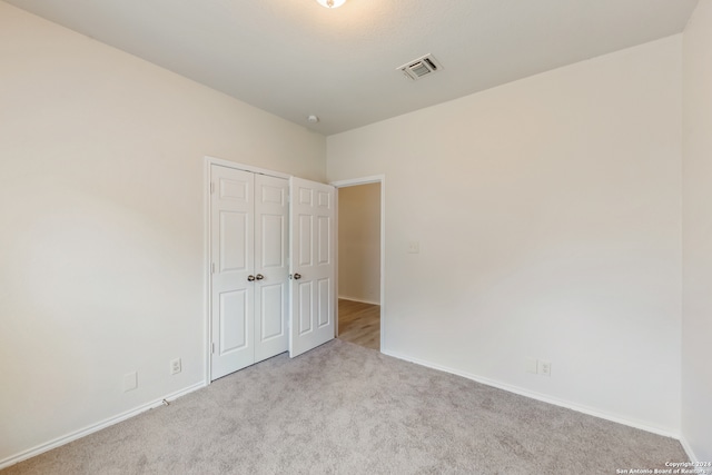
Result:
[[14,474],[615,474],[678,441],[334,340],[235,373]]

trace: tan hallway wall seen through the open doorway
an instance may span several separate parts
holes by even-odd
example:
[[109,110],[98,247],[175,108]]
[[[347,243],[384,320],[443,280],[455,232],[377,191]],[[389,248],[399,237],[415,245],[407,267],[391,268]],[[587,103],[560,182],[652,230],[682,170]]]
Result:
[[338,296],[380,304],[380,184],[338,189]]

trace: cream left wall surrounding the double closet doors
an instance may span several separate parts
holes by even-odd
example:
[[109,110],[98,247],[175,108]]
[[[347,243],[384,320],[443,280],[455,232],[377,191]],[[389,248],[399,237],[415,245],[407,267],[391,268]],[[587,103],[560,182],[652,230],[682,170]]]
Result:
[[204,156],[324,180],[326,141],[4,2],[0,136],[2,465],[204,382]]

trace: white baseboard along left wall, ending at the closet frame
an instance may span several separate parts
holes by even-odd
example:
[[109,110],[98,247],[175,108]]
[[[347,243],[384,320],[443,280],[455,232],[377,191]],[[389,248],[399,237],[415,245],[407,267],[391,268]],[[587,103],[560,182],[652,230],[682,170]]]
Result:
[[28,458],[32,458],[37,455],[40,455],[44,452],[51,451],[52,448],[57,448],[60,445],[65,445],[65,444],[69,444],[72,441],[77,441],[78,438],[85,437],[89,434],[92,434],[95,432],[101,431],[102,428],[107,428],[109,426],[112,426],[115,424],[118,424],[122,420],[126,420],[128,418],[135,417],[141,413],[145,413],[146,410],[149,409],[154,409],[156,407],[159,407],[164,404],[164,400],[175,400],[177,398],[179,398],[180,396],[185,396],[188,393],[192,393],[194,390],[198,390],[200,388],[204,388],[206,386],[206,384],[204,382],[195,384],[192,386],[188,386],[184,389],[177,390],[175,393],[171,393],[165,397],[161,397],[160,399],[156,399],[151,403],[148,404],[144,404],[141,406],[135,407],[134,409],[127,410],[125,413],[118,414],[113,417],[109,417],[107,419],[103,419],[101,422],[98,422],[96,424],[89,425],[82,429],[69,433],[67,435],[63,435],[61,437],[58,437],[53,441],[47,442],[44,444],[40,444],[36,447],[32,447],[28,451],[24,452],[20,452],[19,454],[16,455],[11,455],[8,458],[4,458],[2,461],[0,461],[0,469],[2,468],[7,468],[10,465],[14,465],[17,463],[20,463],[22,461],[27,461]]

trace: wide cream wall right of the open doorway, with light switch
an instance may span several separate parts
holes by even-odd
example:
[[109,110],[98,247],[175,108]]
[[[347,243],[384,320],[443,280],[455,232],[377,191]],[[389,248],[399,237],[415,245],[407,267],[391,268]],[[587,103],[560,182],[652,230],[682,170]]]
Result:
[[681,40],[327,138],[388,180],[384,352],[679,434]]

